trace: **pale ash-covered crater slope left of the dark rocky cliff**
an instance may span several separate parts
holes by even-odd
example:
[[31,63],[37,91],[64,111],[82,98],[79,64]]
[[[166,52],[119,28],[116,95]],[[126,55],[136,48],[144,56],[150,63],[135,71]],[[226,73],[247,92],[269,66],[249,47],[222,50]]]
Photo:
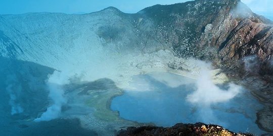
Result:
[[113,7],[85,15],[34,13],[1,19],[2,56],[50,66],[69,76],[84,75],[86,81],[126,79],[143,67],[167,67],[165,61],[179,59],[161,43],[149,19]]

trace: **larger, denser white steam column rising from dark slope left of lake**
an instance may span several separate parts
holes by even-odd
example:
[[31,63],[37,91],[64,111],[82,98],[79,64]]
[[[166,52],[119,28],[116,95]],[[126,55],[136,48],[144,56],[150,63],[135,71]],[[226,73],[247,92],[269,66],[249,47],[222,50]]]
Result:
[[62,111],[62,106],[67,103],[67,99],[64,96],[63,85],[69,84],[69,77],[64,72],[55,71],[47,81],[49,88],[49,98],[53,104],[48,107],[40,118],[34,119],[34,121],[49,121],[58,118]]

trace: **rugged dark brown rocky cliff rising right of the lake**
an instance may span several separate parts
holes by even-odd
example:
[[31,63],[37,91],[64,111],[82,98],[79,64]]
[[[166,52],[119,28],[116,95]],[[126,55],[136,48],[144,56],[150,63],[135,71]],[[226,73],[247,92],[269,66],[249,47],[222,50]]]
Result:
[[157,5],[140,14],[159,26],[177,55],[212,60],[230,77],[243,79],[243,84],[266,103],[265,110],[258,113],[263,121],[258,123],[273,130],[272,21],[252,13],[239,0]]

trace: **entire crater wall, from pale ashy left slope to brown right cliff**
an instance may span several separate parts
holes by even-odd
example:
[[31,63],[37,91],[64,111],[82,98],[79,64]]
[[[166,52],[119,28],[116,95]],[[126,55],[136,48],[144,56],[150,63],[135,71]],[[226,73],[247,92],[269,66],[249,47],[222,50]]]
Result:
[[136,14],[110,7],[85,15],[2,15],[0,55],[55,69],[60,61],[91,57],[86,50],[97,48],[106,56],[169,49],[179,57],[207,59],[254,88],[253,94],[266,103],[257,122],[273,131],[272,24],[240,0],[156,5]]

